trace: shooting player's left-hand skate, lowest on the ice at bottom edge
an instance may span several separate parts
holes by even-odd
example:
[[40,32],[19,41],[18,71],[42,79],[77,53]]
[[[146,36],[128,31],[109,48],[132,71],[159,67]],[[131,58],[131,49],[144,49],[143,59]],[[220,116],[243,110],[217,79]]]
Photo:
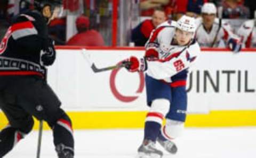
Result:
[[150,140],[144,140],[142,145],[138,149],[138,158],[161,158],[163,152],[157,150],[155,142]]

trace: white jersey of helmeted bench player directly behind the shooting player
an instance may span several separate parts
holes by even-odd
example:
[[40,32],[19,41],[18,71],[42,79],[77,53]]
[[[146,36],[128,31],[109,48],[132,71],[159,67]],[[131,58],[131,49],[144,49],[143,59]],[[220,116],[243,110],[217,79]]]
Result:
[[[207,32],[204,28],[202,17],[196,19],[197,29],[195,33],[195,38],[201,47],[212,47],[212,45],[213,47],[226,47],[226,42],[230,38],[239,39],[238,36],[236,36],[232,32],[232,29],[228,23],[222,21],[220,30],[219,23],[219,19],[215,18],[211,31]],[[215,42],[213,43],[216,34],[217,37]]]

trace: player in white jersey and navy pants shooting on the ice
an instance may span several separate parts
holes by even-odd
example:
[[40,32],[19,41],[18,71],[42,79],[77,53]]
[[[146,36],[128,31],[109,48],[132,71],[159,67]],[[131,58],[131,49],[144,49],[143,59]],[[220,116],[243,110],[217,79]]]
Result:
[[[187,111],[186,80],[188,68],[200,53],[194,40],[195,19],[186,15],[178,22],[167,21],[159,25],[146,43],[143,58],[125,60],[130,72],[146,71],[147,104],[150,107],[145,122],[145,135],[138,149],[138,157],[162,157],[155,147],[161,144],[175,154],[172,142],[184,127]],[[166,125],[162,121],[166,118]]]

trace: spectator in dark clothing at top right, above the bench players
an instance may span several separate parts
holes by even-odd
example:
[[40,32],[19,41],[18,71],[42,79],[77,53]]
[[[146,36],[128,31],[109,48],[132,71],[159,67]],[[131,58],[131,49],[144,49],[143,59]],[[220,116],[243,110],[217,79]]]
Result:
[[224,19],[247,19],[250,17],[250,11],[240,0],[225,0],[222,3]]

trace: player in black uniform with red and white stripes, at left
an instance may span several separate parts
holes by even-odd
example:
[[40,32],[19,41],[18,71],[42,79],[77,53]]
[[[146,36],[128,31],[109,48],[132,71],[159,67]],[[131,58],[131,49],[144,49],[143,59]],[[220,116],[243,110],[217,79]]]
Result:
[[0,45],[0,108],[9,120],[0,132],[0,157],[31,131],[32,116],[52,128],[59,158],[74,157],[71,120],[45,80],[45,66],[53,64],[55,50],[47,34],[49,14],[42,13],[15,17]]

